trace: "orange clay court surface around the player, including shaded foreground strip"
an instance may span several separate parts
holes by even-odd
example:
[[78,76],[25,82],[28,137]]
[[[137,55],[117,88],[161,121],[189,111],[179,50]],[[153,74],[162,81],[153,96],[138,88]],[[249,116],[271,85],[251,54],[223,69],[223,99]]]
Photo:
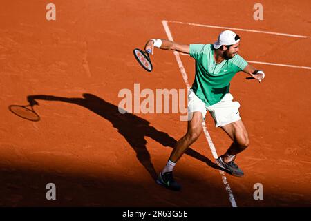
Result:
[[[56,21],[46,20],[48,3],[0,3],[0,206],[234,206],[223,177],[236,206],[311,206],[310,1],[261,1],[263,21],[252,0],[55,0]],[[174,169],[182,191],[164,189],[154,179],[187,122],[118,112],[119,91],[134,84],[187,89],[173,52],[156,49],[151,73],[133,57],[148,39],[168,39],[162,21],[183,44],[240,28],[241,56],[261,62],[249,64],[265,71],[262,84],[238,73],[230,90],[250,138],[236,159],[243,178],[214,168],[202,133]],[[178,56],[192,84],[194,59]],[[28,96],[37,121],[10,111]],[[209,113],[206,127],[222,154],[232,141]],[[48,183],[57,200],[46,200]]]

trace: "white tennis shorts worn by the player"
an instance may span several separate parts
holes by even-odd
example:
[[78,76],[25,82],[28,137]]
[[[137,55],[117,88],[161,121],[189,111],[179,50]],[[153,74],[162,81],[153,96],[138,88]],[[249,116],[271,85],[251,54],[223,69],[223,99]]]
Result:
[[188,120],[192,119],[192,115],[196,111],[200,111],[205,120],[205,115],[209,111],[215,121],[216,127],[236,122],[241,119],[240,113],[238,112],[240,103],[233,102],[232,100],[233,96],[227,93],[220,102],[211,106],[205,106],[205,103],[196,96],[194,91],[190,90],[188,94]]

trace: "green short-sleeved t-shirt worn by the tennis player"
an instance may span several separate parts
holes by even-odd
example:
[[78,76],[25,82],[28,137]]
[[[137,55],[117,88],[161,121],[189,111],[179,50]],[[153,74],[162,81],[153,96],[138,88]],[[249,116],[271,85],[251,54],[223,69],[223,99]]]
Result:
[[220,102],[229,92],[232,77],[247,66],[247,61],[235,55],[217,64],[212,44],[190,44],[189,50],[190,56],[196,60],[196,76],[191,89],[206,106]]

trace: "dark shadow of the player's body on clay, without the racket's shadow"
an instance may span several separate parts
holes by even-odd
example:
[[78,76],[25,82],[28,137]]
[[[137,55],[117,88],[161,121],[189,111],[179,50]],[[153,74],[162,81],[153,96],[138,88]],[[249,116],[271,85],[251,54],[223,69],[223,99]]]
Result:
[[[156,170],[151,162],[150,154],[146,148],[147,140],[145,140],[144,137],[151,137],[163,146],[169,146],[171,148],[175,146],[177,141],[173,137],[170,137],[167,133],[158,131],[153,126],[150,126],[150,123],[145,119],[131,113],[120,113],[117,106],[106,102],[100,97],[88,93],[84,93],[83,97],[84,98],[68,98],[51,95],[29,95],[27,99],[31,106],[38,105],[38,99],[77,104],[79,106],[83,106],[84,108],[88,108],[88,110],[93,111],[93,113],[109,120],[111,124],[113,124],[113,127],[117,128],[117,131],[123,135],[127,142],[129,142],[140,163],[145,169],[147,169],[151,177],[156,180],[158,173],[156,173]],[[214,162],[211,162],[211,160],[207,157],[192,150],[191,148],[187,150],[186,154],[196,158],[197,160],[205,162],[207,165],[215,169],[219,169]]]

